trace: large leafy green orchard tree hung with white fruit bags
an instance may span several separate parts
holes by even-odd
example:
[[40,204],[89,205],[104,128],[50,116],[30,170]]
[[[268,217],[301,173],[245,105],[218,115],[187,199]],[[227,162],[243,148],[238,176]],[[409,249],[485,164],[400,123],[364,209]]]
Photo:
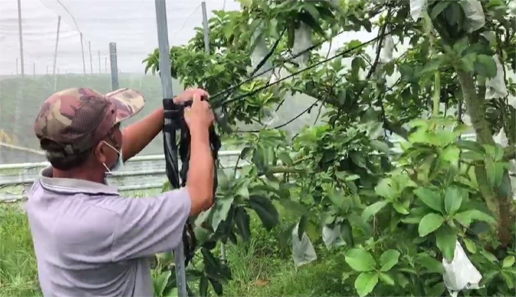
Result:
[[[222,294],[231,273],[212,251],[219,241],[249,240],[254,211],[268,230],[288,224],[280,213],[298,218],[281,243],[342,251],[350,285],[342,294],[442,295],[441,259],[453,260],[456,242],[483,275],[475,294],[514,294],[510,3],[240,2],[241,11],[209,20],[209,53],[200,28],[170,50],[172,76],[217,94],[220,132],[243,147],[240,169],[219,170],[216,203],[196,218],[198,293],[209,282]],[[335,44],[351,31],[377,36]],[[321,53],[325,42],[335,55]],[[158,52],[144,62],[159,70]],[[304,113],[322,123],[296,135],[264,123],[299,93],[314,98]],[[470,129],[464,115],[475,141],[461,139]],[[261,129],[244,133],[241,123]],[[493,135],[505,135],[505,147]],[[168,276],[164,290],[174,286]]]

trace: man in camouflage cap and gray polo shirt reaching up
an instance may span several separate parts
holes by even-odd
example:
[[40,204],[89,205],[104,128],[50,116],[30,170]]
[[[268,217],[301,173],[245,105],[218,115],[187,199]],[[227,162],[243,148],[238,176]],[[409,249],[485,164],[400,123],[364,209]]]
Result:
[[208,127],[214,116],[200,99],[207,95],[190,89],[174,98],[193,100],[185,110],[186,187],[148,198],[123,198],[105,177],[159,133],[163,108],[120,130],[143,107],[136,90],[101,95],[74,88],[45,100],[34,130],[52,166],[41,171],[27,202],[43,295],[153,295],[148,257],[177,247],[187,217],[213,203]]

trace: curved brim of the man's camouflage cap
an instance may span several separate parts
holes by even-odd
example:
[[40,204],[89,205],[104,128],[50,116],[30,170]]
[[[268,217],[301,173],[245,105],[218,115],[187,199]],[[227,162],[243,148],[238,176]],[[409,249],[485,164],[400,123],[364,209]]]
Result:
[[105,96],[117,107],[115,124],[134,116],[145,105],[145,98],[135,89],[118,89],[107,93]]

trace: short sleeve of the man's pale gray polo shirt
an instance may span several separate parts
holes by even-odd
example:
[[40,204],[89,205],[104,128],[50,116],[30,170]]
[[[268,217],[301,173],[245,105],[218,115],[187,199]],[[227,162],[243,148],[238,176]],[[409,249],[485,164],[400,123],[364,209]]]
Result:
[[171,251],[181,243],[191,207],[186,188],[123,200],[113,235],[113,261]]

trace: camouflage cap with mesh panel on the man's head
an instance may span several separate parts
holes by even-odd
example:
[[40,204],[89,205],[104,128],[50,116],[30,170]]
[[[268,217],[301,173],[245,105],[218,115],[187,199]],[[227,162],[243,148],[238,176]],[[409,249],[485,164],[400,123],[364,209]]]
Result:
[[104,138],[118,122],[138,113],[141,93],[119,89],[102,95],[88,88],[59,91],[45,100],[34,122],[40,140],[62,145],[64,154],[83,152]]

